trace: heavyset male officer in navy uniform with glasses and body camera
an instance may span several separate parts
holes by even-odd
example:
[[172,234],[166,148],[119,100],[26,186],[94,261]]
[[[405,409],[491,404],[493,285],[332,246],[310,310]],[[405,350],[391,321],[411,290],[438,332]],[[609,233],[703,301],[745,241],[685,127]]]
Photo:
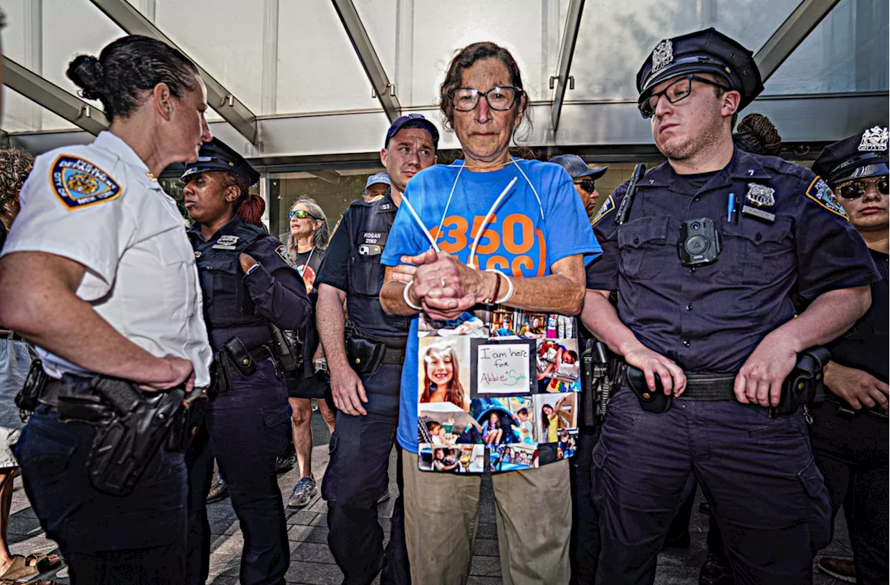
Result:
[[878,274],[824,181],[733,146],[732,118],[763,89],[751,52],[713,28],[667,39],[637,89],[667,162],[595,218],[583,318],[627,362],[594,450],[596,582],[654,581],[693,474],[736,583],[810,582],[828,496],[803,409],[769,407],[797,353],[865,313]]

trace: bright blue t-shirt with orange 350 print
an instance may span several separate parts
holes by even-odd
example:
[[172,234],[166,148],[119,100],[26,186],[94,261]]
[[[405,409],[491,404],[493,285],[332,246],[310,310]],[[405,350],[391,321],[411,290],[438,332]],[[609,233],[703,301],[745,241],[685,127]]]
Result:
[[[475,263],[481,270],[497,268],[508,275],[531,278],[550,274],[550,267],[566,256],[582,254],[586,263],[599,256],[599,244],[569,174],[552,163],[520,159],[514,162],[489,173],[463,170],[456,186],[462,161],[427,168],[411,178],[405,199],[441,250],[466,262],[485,215],[501,191],[517,177],[479,240]],[[538,191],[537,196],[529,182]],[[408,206],[400,206],[381,263],[395,266],[401,256],[415,256],[429,248],[430,241]],[[408,334],[400,402],[399,444],[417,453],[417,317],[411,320]]]

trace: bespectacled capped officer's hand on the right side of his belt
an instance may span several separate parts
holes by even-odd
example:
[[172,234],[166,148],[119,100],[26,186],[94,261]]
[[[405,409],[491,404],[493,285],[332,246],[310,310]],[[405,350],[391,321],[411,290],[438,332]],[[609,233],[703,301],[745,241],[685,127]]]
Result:
[[782,382],[796,363],[793,344],[773,331],[757,345],[735,377],[736,400],[742,404],[778,406]]

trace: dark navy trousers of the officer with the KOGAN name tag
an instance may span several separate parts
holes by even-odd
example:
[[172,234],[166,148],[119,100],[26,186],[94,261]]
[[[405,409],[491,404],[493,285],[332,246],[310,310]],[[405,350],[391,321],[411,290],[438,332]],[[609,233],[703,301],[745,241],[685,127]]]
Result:
[[[321,483],[328,500],[328,546],[344,573],[344,584],[365,585],[383,569],[381,583],[410,582],[401,497],[392,510],[390,541],[377,520],[377,500],[389,484],[389,457],[399,424],[401,365],[382,363],[362,376],[368,414],[337,412],[331,435],[330,462]],[[401,461],[400,461],[401,479]]]

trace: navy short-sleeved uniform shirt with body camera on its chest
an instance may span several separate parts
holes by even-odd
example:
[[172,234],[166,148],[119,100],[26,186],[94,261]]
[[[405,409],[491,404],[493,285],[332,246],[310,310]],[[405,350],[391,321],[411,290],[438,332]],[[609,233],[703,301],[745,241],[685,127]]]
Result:
[[[746,200],[751,183],[773,189],[773,205],[758,208],[775,221],[740,214],[727,222],[731,193],[756,207]],[[639,184],[626,223],[614,223],[626,183],[595,217],[603,256],[588,266],[587,288],[618,289],[620,320],[686,371],[736,372],[767,333],[794,317],[793,298],[808,303],[878,279],[843,207],[805,167],[736,149],[698,191],[667,162]],[[723,249],[713,264],[684,267],[680,224],[700,217],[714,220]]]

